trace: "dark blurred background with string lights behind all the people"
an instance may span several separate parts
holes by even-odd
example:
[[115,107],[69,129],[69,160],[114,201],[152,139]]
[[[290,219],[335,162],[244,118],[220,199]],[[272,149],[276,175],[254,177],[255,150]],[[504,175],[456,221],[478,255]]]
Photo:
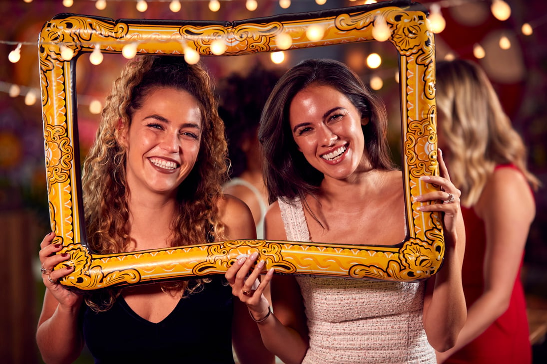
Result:
[[[362,5],[348,0],[258,0],[254,11],[247,0],[220,0],[220,9],[211,11],[209,0],[180,0],[181,10],[170,10],[171,0],[147,0],[147,10],[137,10],[135,0],[0,0],[0,362],[39,363],[34,339],[42,305],[37,253],[39,242],[50,231],[45,182],[42,113],[39,100],[38,34],[44,23],[59,13],[75,13],[112,19],[243,20],[284,13],[300,13]],[[439,7],[446,21],[444,31],[435,36],[437,59],[459,57],[482,65],[493,82],[505,111],[521,133],[529,150],[529,167],[547,185],[547,2],[505,0],[511,15],[505,21],[491,13],[491,0],[441,0],[422,2]],[[141,0],[142,2],[142,0]],[[106,3],[106,8],[101,8]],[[528,23],[532,34],[525,35]],[[502,49],[502,37],[510,43]],[[21,44],[16,63],[8,54]],[[474,49],[480,45],[484,57]],[[366,64],[371,53],[380,55],[380,67]],[[367,83],[374,85],[388,105],[389,139],[394,156],[400,154],[400,100],[397,54],[388,43],[368,42],[317,47],[284,52],[284,61],[274,63],[269,53],[201,57],[215,80],[232,72],[251,69],[255,63],[265,68],[287,69],[303,58],[327,57],[346,62]],[[89,54],[77,63],[78,127],[80,149],[85,155],[95,134],[100,110],[110,85],[126,59],[104,55],[100,65],[89,62]],[[379,85],[381,84],[381,85]],[[376,86],[379,85],[379,86]],[[17,91],[17,92],[16,92]],[[34,94],[35,100],[32,100]],[[38,98],[36,100],[36,98]],[[98,108],[97,108],[98,105]],[[95,110],[92,110],[93,108]],[[545,187],[536,195],[537,216],[526,246],[523,279],[533,324],[534,362],[547,362],[547,194]],[[62,335],[62,333],[59,333]],[[82,355],[80,362],[89,362]]]

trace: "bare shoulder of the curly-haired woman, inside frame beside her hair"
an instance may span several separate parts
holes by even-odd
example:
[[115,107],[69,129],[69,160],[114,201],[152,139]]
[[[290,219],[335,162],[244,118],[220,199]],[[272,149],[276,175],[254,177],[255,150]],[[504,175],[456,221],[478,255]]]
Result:
[[217,203],[220,220],[226,225],[229,239],[254,239],[256,229],[251,210],[235,196],[225,194]]

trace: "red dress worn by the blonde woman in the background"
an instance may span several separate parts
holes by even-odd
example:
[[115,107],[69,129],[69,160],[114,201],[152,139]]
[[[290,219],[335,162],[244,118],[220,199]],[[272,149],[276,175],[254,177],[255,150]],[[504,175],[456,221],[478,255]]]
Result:
[[[486,233],[484,222],[475,214],[473,208],[462,207],[462,214],[465,223],[462,279],[465,301],[469,309],[482,295],[484,287],[482,265]],[[479,337],[452,355],[446,363],[529,364],[532,362],[531,351],[526,300],[519,270],[507,311]]]

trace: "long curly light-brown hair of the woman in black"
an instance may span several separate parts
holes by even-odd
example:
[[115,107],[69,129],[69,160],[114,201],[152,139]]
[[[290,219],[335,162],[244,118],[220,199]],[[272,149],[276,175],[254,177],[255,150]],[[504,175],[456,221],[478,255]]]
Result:
[[[201,64],[190,65],[177,56],[139,56],[129,61],[102,111],[96,139],[83,164],[82,187],[87,243],[100,254],[126,252],[130,244],[126,184],[126,151],[119,143],[120,130],[142,107],[150,90],[182,89],[200,104],[203,132],[196,164],[178,187],[170,246],[203,244],[224,239],[217,202],[227,176],[224,124],[217,111],[213,83]],[[203,279],[191,284],[195,290]],[[188,282],[163,284],[169,290],[188,288]],[[107,300],[110,307],[116,294]],[[89,302],[88,302],[89,304]],[[94,305],[91,305],[94,306]],[[96,307],[95,307],[96,308]]]

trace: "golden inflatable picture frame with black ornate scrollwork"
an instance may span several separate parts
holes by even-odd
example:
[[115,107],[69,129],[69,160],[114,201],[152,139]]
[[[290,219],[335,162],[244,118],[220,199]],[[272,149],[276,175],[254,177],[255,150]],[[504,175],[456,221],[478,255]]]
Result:
[[[78,146],[75,68],[79,55],[99,44],[102,52],[121,53],[137,44],[139,55],[183,55],[185,47],[214,56],[211,43],[222,39],[223,56],[281,50],[276,37],[292,38],[290,49],[375,41],[375,21],[385,19],[399,56],[402,170],[408,234],[403,242],[329,244],[233,240],[195,246],[95,254],[86,244]],[[224,273],[242,254],[259,252],[265,269],[276,273],[360,278],[382,281],[419,281],[434,275],[444,256],[439,213],[420,212],[423,202],[412,196],[437,187],[419,180],[438,175],[435,111],[434,38],[422,5],[396,0],[310,13],[284,14],[241,21],[173,21],[119,19],[59,14],[45,23],[39,37],[40,82],[45,139],[45,166],[51,231],[61,253],[70,259],[56,268],[73,265],[61,280],[67,287],[94,290],[188,279]],[[319,25],[323,38],[311,41],[306,29]],[[62,47],[74,52],[69,61]]]

